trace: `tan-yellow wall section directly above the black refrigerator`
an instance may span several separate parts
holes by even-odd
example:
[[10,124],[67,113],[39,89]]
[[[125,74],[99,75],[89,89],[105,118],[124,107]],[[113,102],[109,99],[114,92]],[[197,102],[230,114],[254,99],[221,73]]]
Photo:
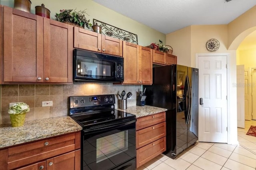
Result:
[[166,45],[173,48],[172,54],[177,56],[178,64],[191,65],[191,26],[167,34]]

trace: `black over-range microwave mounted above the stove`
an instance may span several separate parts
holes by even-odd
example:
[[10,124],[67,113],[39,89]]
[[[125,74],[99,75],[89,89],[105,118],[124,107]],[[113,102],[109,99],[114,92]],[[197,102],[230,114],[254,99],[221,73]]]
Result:
[[123,82],[124,58],[74,49],[74,82]]

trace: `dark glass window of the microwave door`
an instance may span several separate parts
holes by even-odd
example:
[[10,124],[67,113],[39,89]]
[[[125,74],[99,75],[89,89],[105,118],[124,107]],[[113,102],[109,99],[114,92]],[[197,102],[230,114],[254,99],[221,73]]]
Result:
[[115,63],[102,61],[93,58],[77,58],[76,74],[86,78],[112,78],[114,75]]

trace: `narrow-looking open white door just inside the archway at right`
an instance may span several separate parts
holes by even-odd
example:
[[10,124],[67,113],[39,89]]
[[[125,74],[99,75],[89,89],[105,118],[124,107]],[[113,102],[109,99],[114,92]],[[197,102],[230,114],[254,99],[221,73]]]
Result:
[[244,128],[244,65],[236,66],[237,127]]

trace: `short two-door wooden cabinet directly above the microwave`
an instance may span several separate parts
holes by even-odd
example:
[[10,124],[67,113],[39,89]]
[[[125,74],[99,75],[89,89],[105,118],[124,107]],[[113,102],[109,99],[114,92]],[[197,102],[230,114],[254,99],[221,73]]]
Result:
[[122,56],[122,40],[74,27],[74,48]]

